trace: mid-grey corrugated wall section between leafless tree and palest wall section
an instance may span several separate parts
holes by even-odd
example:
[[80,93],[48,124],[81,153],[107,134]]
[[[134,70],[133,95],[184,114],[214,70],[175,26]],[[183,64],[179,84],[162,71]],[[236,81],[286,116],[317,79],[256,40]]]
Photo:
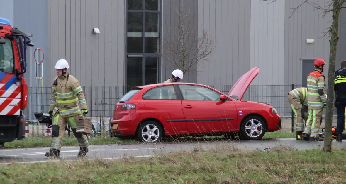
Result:
[[233,85],[250,69],[250,11],[250,1],[198,1],[198,34],[202,26],[216,43],[198,66],[198,83]]

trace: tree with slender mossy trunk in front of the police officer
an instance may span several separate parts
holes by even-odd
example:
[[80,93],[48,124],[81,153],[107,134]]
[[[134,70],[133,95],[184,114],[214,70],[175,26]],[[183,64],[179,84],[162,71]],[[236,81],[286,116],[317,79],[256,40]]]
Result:
[[[271,1],[275,2],[277,0],[261,0],[261,1]],[[322,3],[324,4],[325,1],[323,0]],[[331,25],[326,32],[325,35],[329,34],[329,44],[330,44],[330,50],[329,50],[329,69],[328,69],[328,90],[327,90],[327,107],[326,107],[326,124],[325,124],[325,141],[323,150],[326,152],[331,152],[331,126],[333,122],[333,101],[334,101],[334,72],[335,72],[335,59],[336,59],[336,46],[338,44],[338,34],[339,34],[339,14],[340,10],[343,8],[346,8],[346,6],[343,6],[346,0],[330,0],[329,4],[325,6],[320,6],[318,3],[316,3],[313,0],[304,0],[298,7],[294,8],[292,14],[295,12],[295,10],[298,10],[299,7],[301,7],[304,3],[310,4],[312,7],[314,7],[316,10],[322,10],[322,17],[325,17],[330,12],[332,17]],[[323,37],[325,36],[323,35]]]

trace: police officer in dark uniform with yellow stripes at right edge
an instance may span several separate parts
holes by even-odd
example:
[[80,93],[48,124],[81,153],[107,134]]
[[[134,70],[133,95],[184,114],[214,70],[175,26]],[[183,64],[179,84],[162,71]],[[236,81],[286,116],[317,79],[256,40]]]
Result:
[[345,125],[345,108],[346,108],[346,60],[341,62],[341,68],[334,75],[335,107],[338,113],[338,123],[336,141],[342,141],[342,133]]

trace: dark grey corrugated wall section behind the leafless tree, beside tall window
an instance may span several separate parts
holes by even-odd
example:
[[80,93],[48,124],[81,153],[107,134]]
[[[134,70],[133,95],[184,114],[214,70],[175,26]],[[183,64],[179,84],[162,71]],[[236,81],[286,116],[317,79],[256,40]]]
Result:
[[[198,0],[185,0],[184,1],[184,11],[187,13],[190,11],[190,15],[194,16],[194,21],[192,25],[186,25],[186,28],[190,29],[190,31],[196,31],[197,32],[197,26],[199,24],[198,19],[198,3],[200,1]],[[170,29],[173,29],[174,32],[177,30],[177,23],[179,21],[179,16],[175,11],[175,7],[179,7],[180,10],[182,8],[182,0],[169,0],[163,1],[163,10],[162,10],[162,19],[163,19],[163,29],[162,29],[162,39],[163,39],[163,45],[165,44],[166,38],[170,37]],[[191,17],[189,17],[191,18]],[[197,39],[197,38],[195,38]],[[163,46],[165,48],[165,46]],[[190,49],[186,47],[186,49]],[[196,47],[197,49],[197,47]],[[193,50],[196,50],[193,48]],[[165,51],[164,51],[165,53]],[[190,54],[192,57],[192,54]],[[171,75],[172,71],[175,69],[179,69],[175,66],[175,64],[169,60],[167,60],[165,57],[162,58],[162,82],[167,80]],[[197,70],[197,65],[193,65],[192,70],[190,72],[185,73],[184,80],[185,82],[197,82],[197,72],[194,71]]]

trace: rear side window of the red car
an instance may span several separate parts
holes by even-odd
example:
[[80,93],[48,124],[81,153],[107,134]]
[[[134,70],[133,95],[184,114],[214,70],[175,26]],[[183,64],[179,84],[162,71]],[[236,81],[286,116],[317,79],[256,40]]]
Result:
[[142,98],[144,100],[177,100],[173,85],[150,89],[143,94]]

